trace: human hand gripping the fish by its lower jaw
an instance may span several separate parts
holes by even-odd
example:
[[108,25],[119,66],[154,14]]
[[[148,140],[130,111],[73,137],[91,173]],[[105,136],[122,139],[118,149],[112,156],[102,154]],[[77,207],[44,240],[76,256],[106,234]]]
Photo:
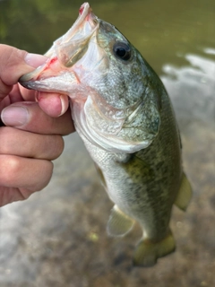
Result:
[[0,45],[0,114],[4,123],[0,126],[0,206],[26,199],[47,186],[52,160],[64,149],[62,135],[74,131],[65,95],[29,91],[18,84],[22,74],[46,59]]

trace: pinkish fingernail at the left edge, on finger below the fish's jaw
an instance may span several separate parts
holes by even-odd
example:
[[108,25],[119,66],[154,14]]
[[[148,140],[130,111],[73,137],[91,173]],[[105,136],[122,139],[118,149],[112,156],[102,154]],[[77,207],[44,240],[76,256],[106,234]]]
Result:
[[28,109],[23,107],[7,107],[1,114],[5,126],[23,126],[28,122]]

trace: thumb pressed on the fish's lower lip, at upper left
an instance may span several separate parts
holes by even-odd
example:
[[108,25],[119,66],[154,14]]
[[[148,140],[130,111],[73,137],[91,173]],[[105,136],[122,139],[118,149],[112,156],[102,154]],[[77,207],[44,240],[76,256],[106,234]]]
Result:
[[42,65],[47,57],[30,54],[24,50],[0,45],[0,85],[12,86],[19,78]]

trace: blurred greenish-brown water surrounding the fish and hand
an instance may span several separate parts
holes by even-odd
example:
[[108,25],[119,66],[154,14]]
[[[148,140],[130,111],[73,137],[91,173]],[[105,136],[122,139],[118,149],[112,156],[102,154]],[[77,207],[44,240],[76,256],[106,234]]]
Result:
[[[77,0],[0,0],[0,42],[45,53],[78,16]],[[48,187],[0,209],[1,287],[215,286],[215,2],[92,0],[159,74],[176,110],[187,212],[173,208],[176,252],[133,268],[141,230],[109,238],[112,203],[77,134],[64,138]]]

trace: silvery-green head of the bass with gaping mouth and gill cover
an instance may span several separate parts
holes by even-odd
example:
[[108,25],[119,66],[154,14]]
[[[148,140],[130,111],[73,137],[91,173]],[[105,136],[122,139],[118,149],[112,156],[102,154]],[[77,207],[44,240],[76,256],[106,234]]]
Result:
[[137,152],[159,133],[159,78],[110,23],[82,4],[79,17],[56,39],[47,62],[20,83],[71,99],[77,131],[108,152]]

